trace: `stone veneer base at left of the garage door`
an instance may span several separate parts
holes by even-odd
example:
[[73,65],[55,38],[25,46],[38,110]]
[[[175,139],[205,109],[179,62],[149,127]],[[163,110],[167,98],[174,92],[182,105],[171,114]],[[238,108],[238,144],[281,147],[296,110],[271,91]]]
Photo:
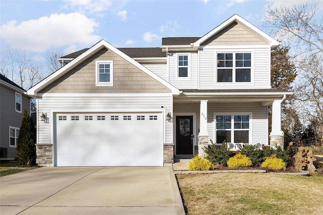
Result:
[[36,164],[42,167],[52,167],[52,144],[36,145]]

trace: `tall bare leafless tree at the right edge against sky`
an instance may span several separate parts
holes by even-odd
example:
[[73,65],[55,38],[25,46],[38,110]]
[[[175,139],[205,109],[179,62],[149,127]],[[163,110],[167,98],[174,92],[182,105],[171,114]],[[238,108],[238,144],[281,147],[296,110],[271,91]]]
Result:
[[316,7],[308,8],[307,4],[268,8],[264,27],[293,48],[297,109],[307,122],[317,120],[323,145],[323,17],[317,20],[316,12]]

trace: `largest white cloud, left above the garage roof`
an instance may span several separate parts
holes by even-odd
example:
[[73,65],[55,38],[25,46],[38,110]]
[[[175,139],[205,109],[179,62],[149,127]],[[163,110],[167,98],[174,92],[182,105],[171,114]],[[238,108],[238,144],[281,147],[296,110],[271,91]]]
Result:
[[44,52],[52,47],[93,44],[100,39],[94,34],[95,27],[96,22],[79,13],[51,14],[21,23],[7,22],[0,27],[0,37],[15,48]]

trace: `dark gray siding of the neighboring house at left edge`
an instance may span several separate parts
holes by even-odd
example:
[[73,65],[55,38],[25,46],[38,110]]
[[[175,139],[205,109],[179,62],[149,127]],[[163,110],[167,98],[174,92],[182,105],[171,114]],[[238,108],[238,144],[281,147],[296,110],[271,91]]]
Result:
[[9,127],[20,128],[21,119],[24,115],[24,109],[30,113],[30,99],[22,95],[22,112],[16,112],[16,95],[13,89],[6,86],[0,86],[0,147],[8,148],[8,157],[17,157],[16,148],[9,147]]

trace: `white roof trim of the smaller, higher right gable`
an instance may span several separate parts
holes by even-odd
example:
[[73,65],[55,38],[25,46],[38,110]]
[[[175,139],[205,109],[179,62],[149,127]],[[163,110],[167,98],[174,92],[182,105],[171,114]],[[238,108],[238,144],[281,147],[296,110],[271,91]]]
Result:
[[258,29],[254,25],[252,25],[251,23],[247,22],[246,20],[244,20],[243,18],[241,18],[240,16],[238,16],[237,14],[235,14],[234,16],[230,17],[228,20],[226,20],[225,22],[223,22],[221,25],[219,25],[218,27],[214,28],[213,30],[211,30],[210,32],[208,32],[207,34],[205,34],[204,36],[202,36],[200,39],[198,39],[197,41],[195,41],[194,43],[192,43],[191,44],[192,47],[194,49],[199,48],[202,43],[206,42],[212,36],[218,34],[222,30],[224,30],[226,27],[230,26],[232,23],[239,24],[241,27],[243,27],[244,29],[248,30],[249,32],[251,32],[252,34],[254,34],[256,37],[258,37],[259,39],[261,39],[264,42],[266,42],[269,45],[271,45],[272,49],[275,49],[280,44],[273,37],[267,35],[266,33],[264,33],[263,31],[261,31],[260,29]]

